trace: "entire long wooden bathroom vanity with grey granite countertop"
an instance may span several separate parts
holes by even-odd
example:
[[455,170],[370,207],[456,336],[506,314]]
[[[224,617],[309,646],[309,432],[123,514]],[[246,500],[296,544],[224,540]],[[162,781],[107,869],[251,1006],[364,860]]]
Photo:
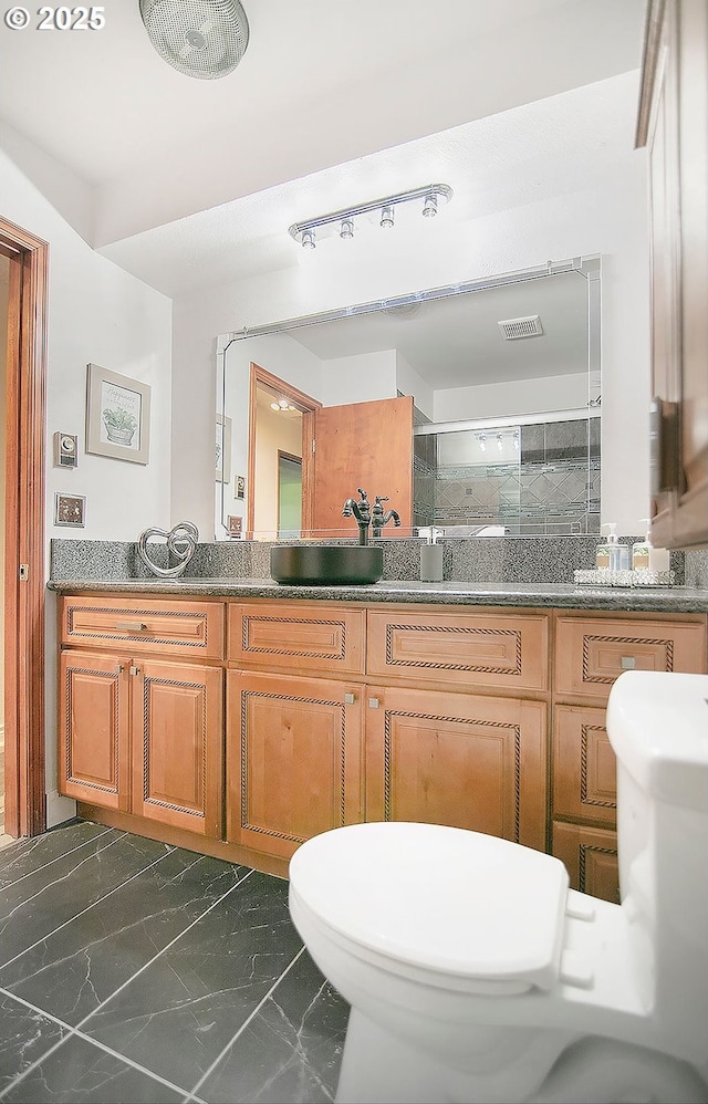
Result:
[[686,589],[50,587],[60,792],[281,875],[327,829],[430,821],[549,851],[614,899],[610,688],[625,669],[708,669],[708,595]]

